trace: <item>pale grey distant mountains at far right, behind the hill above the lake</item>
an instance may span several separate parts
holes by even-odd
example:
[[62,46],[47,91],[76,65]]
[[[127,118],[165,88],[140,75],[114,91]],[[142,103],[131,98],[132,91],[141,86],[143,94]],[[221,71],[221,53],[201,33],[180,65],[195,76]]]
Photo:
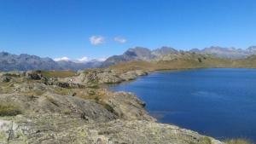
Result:
[[220,58],[243,59],[250,55],[256,55],[256,46],[247,49],[210,47],[205,49],[191,49],[190,52],[198,54],[210,54]]

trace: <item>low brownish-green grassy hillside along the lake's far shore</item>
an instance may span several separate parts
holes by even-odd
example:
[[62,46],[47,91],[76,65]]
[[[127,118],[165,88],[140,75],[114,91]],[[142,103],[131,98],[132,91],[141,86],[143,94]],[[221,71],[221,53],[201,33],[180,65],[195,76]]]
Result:
[[145,71],[177,70],[189,68],[214,68],[214,67],[244,67],[255,68],[256,56],[252,55],[247,59],[222,59],[212,55],[201,55],[184,52],[180,54],[163,55],[150,61],[134,60],[110,66],[113,69],[130,71],[141,69]]

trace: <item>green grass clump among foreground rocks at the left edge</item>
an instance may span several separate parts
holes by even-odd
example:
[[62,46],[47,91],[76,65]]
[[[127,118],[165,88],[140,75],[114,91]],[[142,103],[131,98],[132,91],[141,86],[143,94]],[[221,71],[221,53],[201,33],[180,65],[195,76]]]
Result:
[[10,104],[0,105],[0,117],[16,116],[21,114],[20,108]]

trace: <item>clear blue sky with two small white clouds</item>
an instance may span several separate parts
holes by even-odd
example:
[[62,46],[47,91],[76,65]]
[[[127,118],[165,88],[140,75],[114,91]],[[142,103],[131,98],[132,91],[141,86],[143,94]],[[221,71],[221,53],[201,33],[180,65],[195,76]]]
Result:
[[246,49],[256,0],[0,0],[0,51],[93,59],[136,46]]

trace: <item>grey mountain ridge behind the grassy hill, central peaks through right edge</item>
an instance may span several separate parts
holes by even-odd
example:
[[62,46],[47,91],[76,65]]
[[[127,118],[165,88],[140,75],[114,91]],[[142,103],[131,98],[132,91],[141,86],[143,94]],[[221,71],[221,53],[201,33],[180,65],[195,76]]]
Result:
[[247,49],[210,47],[206,49],[177,50],[171,47],[161,47],[150,50],[147,48],[136,47],[128,49],[123,55],[113,55],[103,62],[102,66],[111,66],[119,62],[131,60],[155,60],[165,55],[182,55],[183,53],[195,53],[200,55],[212,55],[220,59],[245,59],[250,55],[256,55],[256,46]]

